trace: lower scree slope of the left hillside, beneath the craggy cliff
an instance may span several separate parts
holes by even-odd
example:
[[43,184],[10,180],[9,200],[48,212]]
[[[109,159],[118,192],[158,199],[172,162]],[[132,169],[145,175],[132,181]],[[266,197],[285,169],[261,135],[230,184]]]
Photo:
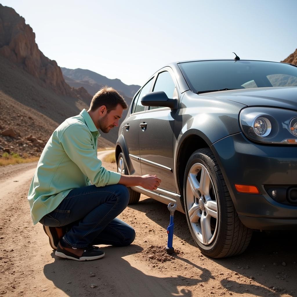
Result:
[[[58,95],[38,78],[0,56],[0,156],[39,155],[53,130],[88,105],[79,98]],[[99,147],[114,144],[102,135]]]

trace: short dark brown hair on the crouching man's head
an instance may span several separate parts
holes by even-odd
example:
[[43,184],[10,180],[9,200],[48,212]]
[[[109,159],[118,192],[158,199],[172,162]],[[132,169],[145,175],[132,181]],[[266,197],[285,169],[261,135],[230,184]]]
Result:
[[123,109],[127,109],[128,105],[125,99],[115,89],[105,86],[100,89],[93,97],[90,105],[90,110],[94,111],[98,107],[105,105],[107,112],[116,109],[116,106],[121,104]]

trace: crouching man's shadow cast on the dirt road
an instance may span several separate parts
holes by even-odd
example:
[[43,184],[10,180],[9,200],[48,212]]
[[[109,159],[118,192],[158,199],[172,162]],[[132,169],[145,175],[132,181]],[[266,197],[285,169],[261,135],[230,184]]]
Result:
[[[148,275],[138,269],[138,263],[141,262],[140,269],[152,274],[162,274],[159,269],[150,271],[146,269],[145,260],[138,261],[138,257],[133,256],[131,264],[129,255],[141,252],[143,249],[138,245],[129,247],[100,247],[105,252],[105,257],[95,261],[74,261],[60,259],[52,253],[55,261],[44,266],[44,275],[51,280],[53,284],[64,291],[68,296],[193,296],[190,289],[182,289],[179,286],[194,286],[200,282],[205,282],[211,278],[211,272],[206,268],[195,265],[197,273],[196,278],[187,278],[178,275],[177,277],[156,277]],[[124,257],[127,257],[125,259]],[[175,261],[178,261],[176,259]],[[170,271],[166,269],[167,275]],[[161,270],[161,269],[160,269]],[[91,272],[95,277],[90,277]],[[172,275],[174,275],[174,270]],[[71,282],[71,283],[69,283]],[[91,288],[91,284],[97,285]]]

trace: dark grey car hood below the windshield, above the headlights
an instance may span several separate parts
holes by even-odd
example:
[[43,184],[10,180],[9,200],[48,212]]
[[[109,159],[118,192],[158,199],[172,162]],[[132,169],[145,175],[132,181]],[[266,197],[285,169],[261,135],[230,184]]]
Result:
[[297,110],[297,87],[239,89],[199,94],[242,103],[247,106],[274,106]]

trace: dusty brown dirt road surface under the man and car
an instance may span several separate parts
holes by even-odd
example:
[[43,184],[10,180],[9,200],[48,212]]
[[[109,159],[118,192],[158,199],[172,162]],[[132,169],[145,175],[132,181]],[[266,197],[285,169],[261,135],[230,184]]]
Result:
[[178,253],[167,257],[169,211],[144,195],[119,216],[136,230],[131,246],[102,246],[105,257],[96,261],[57,258],[42,225],[31,222],[26,196],[35,166],[0,168],[1,296],[297,296],[296,231],[254,233],[242,255],[216,260],[200,253],[176,212]]

